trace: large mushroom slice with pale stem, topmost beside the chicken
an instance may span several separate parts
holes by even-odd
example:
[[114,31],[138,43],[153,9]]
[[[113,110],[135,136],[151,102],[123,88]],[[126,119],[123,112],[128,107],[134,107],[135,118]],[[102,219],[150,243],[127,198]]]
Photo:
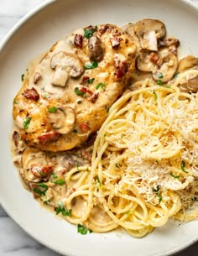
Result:
[[134,27],[134,31],[140,40],[141,47],[147,50],[158,50],[158,40],[164,39],[166,35],[165,25],[151,18],[139,20]]

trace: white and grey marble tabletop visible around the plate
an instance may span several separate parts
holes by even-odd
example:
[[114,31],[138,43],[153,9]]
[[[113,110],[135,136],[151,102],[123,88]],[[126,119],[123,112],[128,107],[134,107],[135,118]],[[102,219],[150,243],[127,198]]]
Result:
[[[191,1],[198,5],[198,0]],[[43,2],[44,0],[0,0],[0,41],[3,40],[4,36],[20,18]],[[41,255],[59,256],[60,254],[45,248],[42,244],[31,238],[8,217],[7,213],[0,206],[0,256]],[[197,256],[198,243],[175,255]]]

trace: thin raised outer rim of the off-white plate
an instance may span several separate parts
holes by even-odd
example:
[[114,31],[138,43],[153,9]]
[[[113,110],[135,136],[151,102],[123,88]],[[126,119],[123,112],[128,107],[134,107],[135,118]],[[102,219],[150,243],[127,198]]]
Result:
[[[161,0],[159,0],[159,1],[161,1]],[[170,0],[170,1],[178,3],[178,0]],[[57,2],[57,0],[44,0],[44,3],[39,3],[39,5],[37,7],[33,8],[28,13],[26,13],[22,18],[20,18],[18,20],[18,22],[12,27],[12,29],[10,29],[8,31],[8,33],[0,41],[0,55],[2,54],[3,49],[8,44],[9,40],[11,40],[13,38],[14,34],[16,34],[18,32],[18,30],[23,26],[23,24],[28,22],[30,18],[33,18],[34,15],[36,15],[37,13],[42,11],[44,8],[47,8],[48,6],[50,6],[50,4],[55,3],[55,2]],[[195,3],[192,0],[180,0],[179,4],[181,4],[181,5],[183,4],[186,7],[190,8],[191,10],[196,11],[197,16],[198,16],[198,1],[197,1],[197,3]],[[70,250],[68,248],[67,248],[67,251],[65,252],[67,254],[65,254],[63,251],[61,251],[60,248],[56,248],[55,246],[53,246],[53,244],[47,243],[46,239],[44,240],[39,235],[34,234],[31,230],[31,228],[25,227],[23,222],[19,221],[16,217],[14,217],[13,213],[8,210],[8,207],[6,206],[6,202],[3,200],[3,197],[1,195],[0,195],[0,205],[3,207],[3,210],[8,214],[8,216],[11,217],[13,219],[13,221],[18,225],[18,227],[22,228],[23,232],[28,233],[29,236],[31,238],[34,238],[34,240],[36,240],[38,243],[43,244],[46,248],[50,248],[54,252],[60,253],[61,255],[76,256],[76,254],[70,252]],[[198,237],[194,238],[194,239],[190,239],[186,243],[183,243],[182,246],[180,246],[180,248],[173,248],[166,253],[163,253],[163,252],[157,253],[157,254],[155,254],[155,256],[169,256],[169,255],[172,255],[175,253],[180,253],[184,249],[189,248],[191,245],[193,245],[197,242],[198,242]],[[78,256],[81,256],[81,254],[79,254]]]

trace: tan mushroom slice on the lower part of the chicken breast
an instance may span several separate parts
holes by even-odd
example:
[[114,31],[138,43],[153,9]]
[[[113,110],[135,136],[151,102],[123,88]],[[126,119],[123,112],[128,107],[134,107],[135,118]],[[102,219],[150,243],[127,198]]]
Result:
[[55,112],[47,112],[48,121],[59,133],[70,133],[74,128],[74,109],[66,105],[55,107]]

